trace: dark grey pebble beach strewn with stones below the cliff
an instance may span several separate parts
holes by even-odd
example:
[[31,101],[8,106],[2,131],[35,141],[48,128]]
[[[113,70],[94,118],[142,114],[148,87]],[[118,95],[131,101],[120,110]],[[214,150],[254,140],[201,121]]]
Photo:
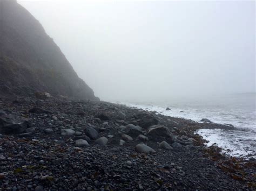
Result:
[[[31,108],[45,111],[37,114],[29,112]],[[32,190],[38,186],[52,190],[255,188],[255,176],[252,176],[255,175],[255,160],[228,158],[220,154],[219,147],[205,147],[205,140],[194,135],[198,129],[214,129],[216,126],[228,129],[230,126],[156,115],[109,102],[84,102],[60,97],[46,100],[33,97],[2,99],[0,110],[8,115],[26,117],[30,128],[33,128],[26,134],[2,133],[2,189],[18,186]],[[155,125],[153,119],[157,119],[158,125],[166,126],[172,137],[150,135],[147,129],[149,125]],[[119,145],[124,139],[122,128],[129,124],[144,128],[140,132],[127,132],[126,135],[133,140]],[[76,146],[76,140],[86,139],[86,132],[91,128],[97,131],[97,138],[106,137],[107,144],[96,145],[95,139],[91,138],[89,146]],[[65,129],[74,133],[65,135]],[[149,140],[138,140],[138,134],[147,136]],[[192,144],[189,138],[194,139]],[[158,146],[163,140],[170,145],[179,143],[181,147],[164,150]],[[140,143],[152,147],[156,153],[136,152],[134,147]]]

